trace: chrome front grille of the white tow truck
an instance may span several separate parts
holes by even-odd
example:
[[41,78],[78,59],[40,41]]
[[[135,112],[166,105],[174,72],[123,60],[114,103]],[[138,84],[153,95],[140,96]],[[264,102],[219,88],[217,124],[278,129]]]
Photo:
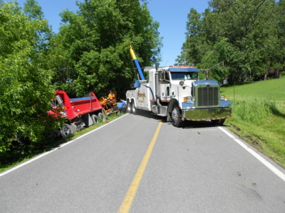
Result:
[[198,106],[216,106],[219,104],[219,87],[198,87]]

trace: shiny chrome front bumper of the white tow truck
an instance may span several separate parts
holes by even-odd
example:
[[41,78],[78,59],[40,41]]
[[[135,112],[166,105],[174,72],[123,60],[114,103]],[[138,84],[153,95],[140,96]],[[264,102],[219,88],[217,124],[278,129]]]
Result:
[[182,109],[182,118],[191,121],[206,121],[232,117],[232,108]]

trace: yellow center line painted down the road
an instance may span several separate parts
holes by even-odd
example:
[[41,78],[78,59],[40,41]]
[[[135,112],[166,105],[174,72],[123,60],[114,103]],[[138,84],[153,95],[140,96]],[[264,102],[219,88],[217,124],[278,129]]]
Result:
[[129,212],[129,209],[132,206],[132,202],[134,201],[134,197],[136,196],[136,191],[138,190],[138,186],[140,185],[140,180],[142,180],[143,173],[145,173],[145,167],[147,167],[147,162],[149,162],[149,157],[151,156],[153,146],[156,143],[156,139],[158,138],[158,133],[160,132],[161,125],[162,121],[160,121],[160,124],[158,124],[158,128],[156,128],[156,133],[154,133],[153,138],[151,139],[151,143],[149,143],[147,152],[145,152],[145,156],[143,156],[143,160],[142,162],[140,162],[140,167],[138,167],[138,171],[136,171],[136,175],[134,175],[132,184],[127,190],[127,194],[125,195],[125,198],[121,203],[121,207],[118,213],[127,213]]

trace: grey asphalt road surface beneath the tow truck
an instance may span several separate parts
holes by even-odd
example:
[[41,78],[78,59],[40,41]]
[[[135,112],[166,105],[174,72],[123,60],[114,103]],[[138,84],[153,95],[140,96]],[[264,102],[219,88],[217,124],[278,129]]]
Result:
[[148,112],[125,115],[0,173],[0,212],[118,212],[150,143],[129,212],[285,212],[285,180],[225,127],[162,122],[158,132],[160,119]]

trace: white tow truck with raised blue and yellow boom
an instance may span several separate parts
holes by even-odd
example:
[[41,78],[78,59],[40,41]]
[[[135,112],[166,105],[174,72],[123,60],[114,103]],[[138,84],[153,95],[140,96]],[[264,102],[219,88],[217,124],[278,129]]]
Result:
[[157,63],[156,68],[144,69],[149,72],[147,83],[132,46],[130,53],[138,71],[138,81],[131,83],[134,90],[126,93],[129,113],[136,114],[138,109],[151,111],[167,117],[167,122],[175,127],[182,127],[185,121],[211,121],[222,125],[227,117],[232,117],[231,103],[220,96],[218,81],[208,78],[200,81],[199,70],[194,67],[158,67]]

